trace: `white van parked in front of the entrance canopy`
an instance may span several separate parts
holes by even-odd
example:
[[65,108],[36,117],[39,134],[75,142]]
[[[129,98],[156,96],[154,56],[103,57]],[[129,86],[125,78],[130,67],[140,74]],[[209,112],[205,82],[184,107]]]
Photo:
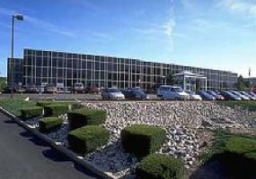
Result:
[[157,97],[163,99],[190,99],[190,95],[186,93],[181,87],[171,85],[161,85],[157,90]]

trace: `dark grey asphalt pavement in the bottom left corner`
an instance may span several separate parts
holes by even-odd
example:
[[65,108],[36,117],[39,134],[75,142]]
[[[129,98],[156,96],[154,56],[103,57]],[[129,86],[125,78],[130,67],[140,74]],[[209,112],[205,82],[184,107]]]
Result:
[[0,113],[0,179],[96,178]]

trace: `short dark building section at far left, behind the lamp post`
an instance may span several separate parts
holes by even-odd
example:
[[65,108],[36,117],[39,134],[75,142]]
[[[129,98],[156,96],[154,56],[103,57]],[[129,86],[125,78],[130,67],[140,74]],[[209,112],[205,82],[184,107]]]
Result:
[[7,59],[7,83],[22,84],[23,78],[23,59],[22,58],[8,58]]

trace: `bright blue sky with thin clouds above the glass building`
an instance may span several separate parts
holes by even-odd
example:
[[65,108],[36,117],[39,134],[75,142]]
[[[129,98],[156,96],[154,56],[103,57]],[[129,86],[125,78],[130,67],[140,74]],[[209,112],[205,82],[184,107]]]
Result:
[[[54,3],[53,3],[54,2]],[[256,76],[256,0],[1,0],[0,75],[22,49],[115,55]]]

